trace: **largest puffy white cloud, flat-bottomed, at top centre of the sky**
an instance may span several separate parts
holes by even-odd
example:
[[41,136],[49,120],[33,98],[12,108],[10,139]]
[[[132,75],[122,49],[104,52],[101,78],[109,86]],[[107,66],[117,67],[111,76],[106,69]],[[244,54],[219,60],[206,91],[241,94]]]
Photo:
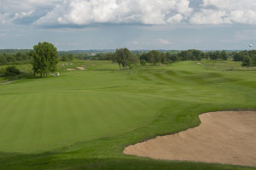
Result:
[[[58,4],[36,25],[90,25],[95,23],[166,24],[170,14],[179,14],[173,21],[189,16],[189,0],[68,0]],[[171,19],[170,19],[171,20]]]

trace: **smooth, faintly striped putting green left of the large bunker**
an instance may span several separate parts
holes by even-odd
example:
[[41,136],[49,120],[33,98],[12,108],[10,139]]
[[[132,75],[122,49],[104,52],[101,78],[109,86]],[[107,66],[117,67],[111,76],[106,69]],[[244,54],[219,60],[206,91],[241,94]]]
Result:
[[[148,99],[137,99],[133,95],[28,94],[17,96],[15,97],[17,102],[23,99],[20,109],[26,112],[21,112],[19,116],[12,118],[9,124],[15,124],[13,128],[3,129],[9,136],[3,137],[0,141],[8,145],[2,147],[2,150],[38,152],[125,133],[149,122],[159,109],[154,105],[152,107],[143,105],[148,102]],[[28,103],[29,105],[26,105]]]

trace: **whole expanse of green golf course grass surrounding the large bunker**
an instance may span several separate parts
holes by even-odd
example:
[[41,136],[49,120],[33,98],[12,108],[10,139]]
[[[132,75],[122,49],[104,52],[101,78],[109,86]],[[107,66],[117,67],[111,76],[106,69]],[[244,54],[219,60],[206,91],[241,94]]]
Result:
[[[253,169],[122,154],[126,145],[197,126],[201,113],[256,109],[254,68],[197,63],[131,72],[74,61],[58,65],[61,77],[0,85],[0,169]],[[86,71],[67,71],[81,65]]]

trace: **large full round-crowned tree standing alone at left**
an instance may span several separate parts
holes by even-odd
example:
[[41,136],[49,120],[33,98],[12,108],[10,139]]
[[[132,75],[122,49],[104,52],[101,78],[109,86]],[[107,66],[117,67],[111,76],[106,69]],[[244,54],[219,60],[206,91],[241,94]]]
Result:
[[57,49],[52,43],[38,42],[34,50],[30,53],[32,56],[32,70],[34,75],[39,74],[41,77],[47,77],[49,71],[56,70],[58,63]]

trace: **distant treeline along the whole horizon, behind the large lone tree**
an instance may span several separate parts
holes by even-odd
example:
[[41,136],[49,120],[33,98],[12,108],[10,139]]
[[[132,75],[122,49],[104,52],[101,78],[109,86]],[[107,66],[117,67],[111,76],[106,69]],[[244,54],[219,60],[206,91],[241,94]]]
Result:
[[[129,53],[128,60],[131,59],[131,62],[119,61],[117,54],[119,49],[115,53],[106,52],[106,53],[96,53],[96,54],[86,54],[86,53],[69,53],[69,52],[58,52],[58,59],[61,61],[71,61],[73,59],[80,60],[113,60],[113,62],[119,62],[119,65],[125,65],[125,68],[131,67],[131,65],[140,63],[141,65],[146,65],[147,63],[156,65],[157,63],[168,64],[175,61],[184,61],[184,60],[198,60],[209,59],[209,60],[227,60],[233,59],[234,61],[241,61],[243,66],[255,66],[256,65],[256,50],[251,51],[239,51],[239,52],[226,52],[222,51],[201,51],[196,49],[189,49],[183,51],[130,51],[127,48],[121,48],[125,50],[125,53]],[[128,50],[128,51],[127,51]],[[13,54],[15,51],[18,51],[16,54]],[[2,50],[0,53],[0,65],[8,64],[20,64],[27,63],[32,61],[32,54],[29,50]],[[22,53],[21,53],[22,52]],[[26,52],[26,53],[25,53]],[[122,52],[123,53],[123,52]],[[130,56],[131,54],[131,56]],[[123,59],[125,60],[125,59]],[[126,63],[128,63],[126,65]],[[130,64],[129,64],[130,63]],[[123,66],[121,66],[123,67]]]

